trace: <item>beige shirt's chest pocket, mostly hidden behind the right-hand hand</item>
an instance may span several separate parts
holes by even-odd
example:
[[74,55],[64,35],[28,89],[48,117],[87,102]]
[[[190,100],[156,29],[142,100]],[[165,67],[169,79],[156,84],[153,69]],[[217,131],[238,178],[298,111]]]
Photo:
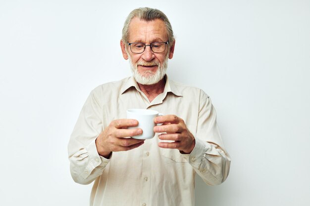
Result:
[[[187,128],[190,130],[190,132],[195,136],[196,131],[194,128],[195,126],[188,125]],[[160,148],[161,155],[170,162],[174,163],[187,163],[188,162],[188,155],[186,154],[181,154],[179,150],[177,149],[165,149],[165,148]]]

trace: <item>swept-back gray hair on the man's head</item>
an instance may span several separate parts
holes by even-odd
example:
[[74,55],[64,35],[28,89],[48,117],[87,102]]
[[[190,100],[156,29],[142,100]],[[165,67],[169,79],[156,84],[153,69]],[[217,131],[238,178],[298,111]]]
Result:
[[136,8],[132,12],[130,12],[130,14],[128,15],[124,23],[122,41],[128,42],[129,24],[131,20],[135,17],[138,17],[140,18],[140,20],[143,20],[143,21],[153,21],[155,19],[161,19],[166,25],[167,34],[168,34],[168,45],[174,42],[175,39],[173,36],[172,26],[167,16],[162,11],[155,9],[155,8],[149,8],[149,7]]

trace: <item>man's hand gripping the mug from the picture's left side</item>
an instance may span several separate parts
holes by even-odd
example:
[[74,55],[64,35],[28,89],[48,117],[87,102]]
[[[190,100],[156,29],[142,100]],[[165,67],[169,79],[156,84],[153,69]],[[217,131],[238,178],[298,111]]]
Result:
[[142,134],[142,129],[127,129],[137,126],[137,120],[119,119],[112,121],[96,139],[96,147],[100,156],[109,158],[111,152],[132,150],[141,146],[144,139],[134,139],[132,136]]

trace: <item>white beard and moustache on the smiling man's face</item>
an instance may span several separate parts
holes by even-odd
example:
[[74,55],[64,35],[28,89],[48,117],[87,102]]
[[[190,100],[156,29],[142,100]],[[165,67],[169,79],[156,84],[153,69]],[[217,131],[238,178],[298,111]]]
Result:
[[[129,56],[129,62],[131,67],[131,72],[133,77],[135,78],[136,82],[146,85],[151,85],[159,82],[162,80],[162,78],[165,76],[168,66],[168,54],[165,56],[165,59],[162,64],[160,64],[158,61],[151,61],[151,62],[145,62],[145,61],[138,61],[136,64],[132,63],[131,56]],[[138,65],[144,65],[144,66],[152,66],[157,65],[158,68],[155,73],[152,71],[145,71],[143,73],[139,73],[138,71]]]

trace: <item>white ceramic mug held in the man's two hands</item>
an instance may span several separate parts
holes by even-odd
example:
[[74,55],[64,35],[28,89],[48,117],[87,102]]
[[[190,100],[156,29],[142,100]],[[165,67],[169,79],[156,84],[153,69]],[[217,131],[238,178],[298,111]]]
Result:
[[[162,116],[163,114],[158,113],[155,110],[147,109],[129,109],[127,110],[127,119],[134,119],[139,122],[138,126],[129,126],[128,129],[141,128],[142,134],[132,136],[135,139],[151,139],[155,136],[154,118]],[[161,124],[157,124],[161,125]]]

